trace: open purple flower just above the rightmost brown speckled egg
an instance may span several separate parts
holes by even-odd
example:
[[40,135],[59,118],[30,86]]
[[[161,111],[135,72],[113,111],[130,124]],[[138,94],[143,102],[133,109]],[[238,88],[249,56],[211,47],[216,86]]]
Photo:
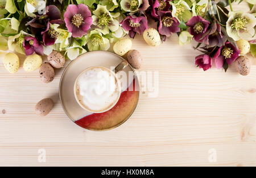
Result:
[[240,50],[234,47],[230,42],[226,42],[225,45],[222,45],[218,48],[217,52],[214,55],[214,61],[217,69],[222,68],[224,60],[228,64],[232,64],[240,54]]

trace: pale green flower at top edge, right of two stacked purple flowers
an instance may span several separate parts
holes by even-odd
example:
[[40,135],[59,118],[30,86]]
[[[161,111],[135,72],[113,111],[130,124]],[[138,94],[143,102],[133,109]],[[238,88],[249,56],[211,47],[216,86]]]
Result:
[[187,2],[183,0],[179,0],[174,3],[171,2],[171,5],[172,5],[172,16],[177,18],[179,21],[183,19],[184,22],[188,22],[188,20],[192,18],[191,9],[188,6]]

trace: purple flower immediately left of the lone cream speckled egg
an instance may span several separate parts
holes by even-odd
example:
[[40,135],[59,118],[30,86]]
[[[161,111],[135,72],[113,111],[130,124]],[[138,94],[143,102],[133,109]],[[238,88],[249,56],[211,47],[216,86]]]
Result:
[[129,31],[130,38],[134,38],[136,32],[141,35],[147,29],[147,19],[144,16],[126,16],[120,24],[123,29]]

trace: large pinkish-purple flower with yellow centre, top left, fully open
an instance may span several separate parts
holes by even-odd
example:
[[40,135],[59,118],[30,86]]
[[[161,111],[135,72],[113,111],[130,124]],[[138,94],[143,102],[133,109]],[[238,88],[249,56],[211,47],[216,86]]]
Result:
[[86,35],[93,22],[90,10],[84,4],[68,5],[64,18],[68,31],[72,32],[74,38]]

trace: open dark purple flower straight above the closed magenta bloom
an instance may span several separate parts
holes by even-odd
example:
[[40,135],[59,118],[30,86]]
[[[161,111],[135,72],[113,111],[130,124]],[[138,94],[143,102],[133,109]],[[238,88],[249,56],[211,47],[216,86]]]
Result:
[[189,33],[194,36],[196,42],[199,43],[208,43],[208,36],[207,30],[209,27],[210,22],[201,18],[201,16],[193,16],[191,19],[188,20],[186,23],[189,26]]

